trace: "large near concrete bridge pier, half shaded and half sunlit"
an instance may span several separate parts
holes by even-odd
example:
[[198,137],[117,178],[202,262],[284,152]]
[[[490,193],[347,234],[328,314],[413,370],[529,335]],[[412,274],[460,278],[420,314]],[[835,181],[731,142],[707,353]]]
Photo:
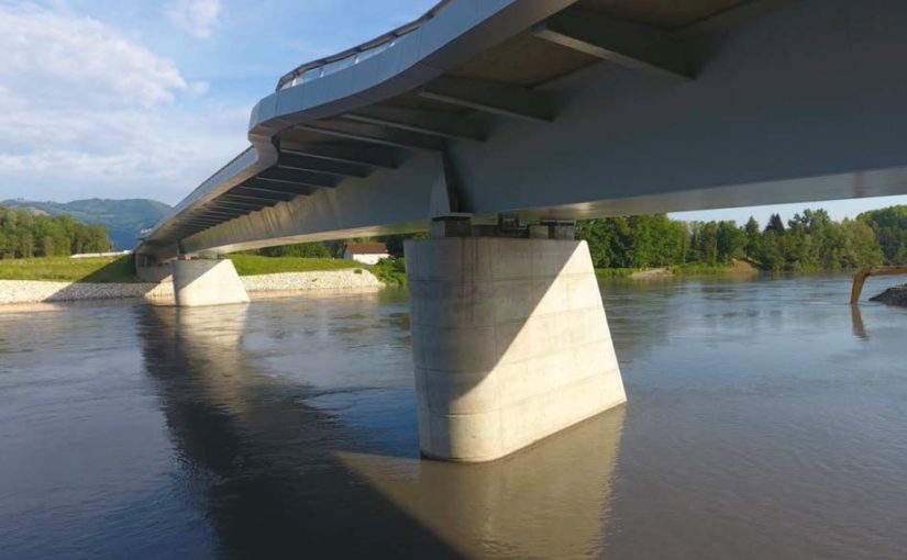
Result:
[[585,242],[408,242],[422,452],[488,461],[626,402]]

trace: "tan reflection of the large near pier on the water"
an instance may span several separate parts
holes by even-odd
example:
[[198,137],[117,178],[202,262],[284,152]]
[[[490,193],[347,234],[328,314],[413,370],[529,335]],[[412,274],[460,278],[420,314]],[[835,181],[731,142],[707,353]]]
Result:
[[487,464],[338,456],[466,558],[595,558],[623,416],[619,406]]

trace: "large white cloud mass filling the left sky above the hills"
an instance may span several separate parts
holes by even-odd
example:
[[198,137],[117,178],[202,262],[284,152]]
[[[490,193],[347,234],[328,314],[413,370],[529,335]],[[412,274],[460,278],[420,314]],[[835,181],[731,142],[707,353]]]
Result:
[[245,109],[109,25],[0,3],[0,200],[173,203],[246,145]]

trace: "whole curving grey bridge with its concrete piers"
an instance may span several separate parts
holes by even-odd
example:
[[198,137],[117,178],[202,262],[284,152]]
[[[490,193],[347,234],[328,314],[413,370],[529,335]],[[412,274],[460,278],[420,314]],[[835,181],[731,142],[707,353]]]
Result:
[[626,400],[573,221],[907,193],[905,23],[897,0],[445,0],[280,78],[136,264],[178,304],[241,302],[210,257],[430,229],[406,248],[421,447],[501,457]]

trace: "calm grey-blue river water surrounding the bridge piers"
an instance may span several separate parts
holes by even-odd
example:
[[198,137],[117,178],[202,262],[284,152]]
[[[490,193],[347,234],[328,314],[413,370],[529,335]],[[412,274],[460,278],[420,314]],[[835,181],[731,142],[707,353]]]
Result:
[[0,558],[904,559],[907,310],[849,290],[604,283],[628,404],[483,466],[419,459],[402,290],[5,310]]

